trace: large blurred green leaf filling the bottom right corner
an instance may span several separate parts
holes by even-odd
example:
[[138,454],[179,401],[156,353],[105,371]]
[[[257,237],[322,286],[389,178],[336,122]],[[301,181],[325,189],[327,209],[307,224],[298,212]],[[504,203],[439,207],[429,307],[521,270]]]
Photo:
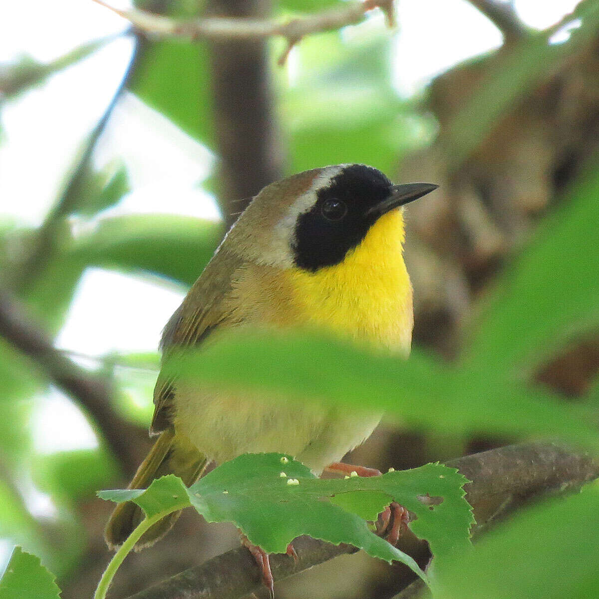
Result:
[[599,588],[599,486],[521,512],[449,556],[435,599],[589,599]]

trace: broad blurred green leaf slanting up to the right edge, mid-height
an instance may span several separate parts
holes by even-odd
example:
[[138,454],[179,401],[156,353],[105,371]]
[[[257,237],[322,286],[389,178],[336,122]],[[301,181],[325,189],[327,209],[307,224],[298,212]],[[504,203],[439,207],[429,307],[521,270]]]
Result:
[[599,325],[599,165],[540,226],[486,301],[462,364],[504,376]]

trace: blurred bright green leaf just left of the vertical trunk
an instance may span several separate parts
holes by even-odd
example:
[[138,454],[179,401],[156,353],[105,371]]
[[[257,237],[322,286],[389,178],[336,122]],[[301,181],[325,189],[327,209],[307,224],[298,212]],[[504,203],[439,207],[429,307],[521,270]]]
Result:
[[210,145],[213,117],[208,51],[181,40],[144,43],[129,88],[187,134]]

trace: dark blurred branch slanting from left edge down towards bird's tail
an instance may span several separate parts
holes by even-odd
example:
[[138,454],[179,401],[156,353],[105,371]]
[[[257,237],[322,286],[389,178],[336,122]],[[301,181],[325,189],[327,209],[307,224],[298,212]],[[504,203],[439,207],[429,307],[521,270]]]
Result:
[[140,462],[135,440],[140,429],[113,410],[114,392],[101,377],[90,374],[56,349],[16,298],[0,290],[0,335],[31,358],[44,374],[92,416],[126,473]]

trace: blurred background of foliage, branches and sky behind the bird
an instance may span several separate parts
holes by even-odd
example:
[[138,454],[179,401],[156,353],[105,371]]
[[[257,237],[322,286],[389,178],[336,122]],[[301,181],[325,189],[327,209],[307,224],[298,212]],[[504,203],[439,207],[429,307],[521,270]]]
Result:
[[[285,19],[335,4],[138,6]],[[0,566],[19,543],[65,599],[92,596],[111,510],[95,491],[125,485],[149,447],[162,326],[247,199],[286,174],[361,162],[440,184],[409,207],[406,260],[415,343],[455,359],[539,223],[566,218],[571,187],[599,174],[598,4],[582,2],[581,20],[564,18],[575,0],[397,0],[394,30],[375,10],[306,37],[278,66],[280,39],[157,40],[91,0],[5,3]],[[599,184],[589,189],[599,199]],[[599,337],[585,330],[527,376],[576,401],[598,367]],[[348,459],[407,468],[508,441],[387,423]],[[232,527],[186,513],[128,558],[113,596],[237,543]],[[394,568],[344,556],[277,586],[281,599],[391,597]]]

